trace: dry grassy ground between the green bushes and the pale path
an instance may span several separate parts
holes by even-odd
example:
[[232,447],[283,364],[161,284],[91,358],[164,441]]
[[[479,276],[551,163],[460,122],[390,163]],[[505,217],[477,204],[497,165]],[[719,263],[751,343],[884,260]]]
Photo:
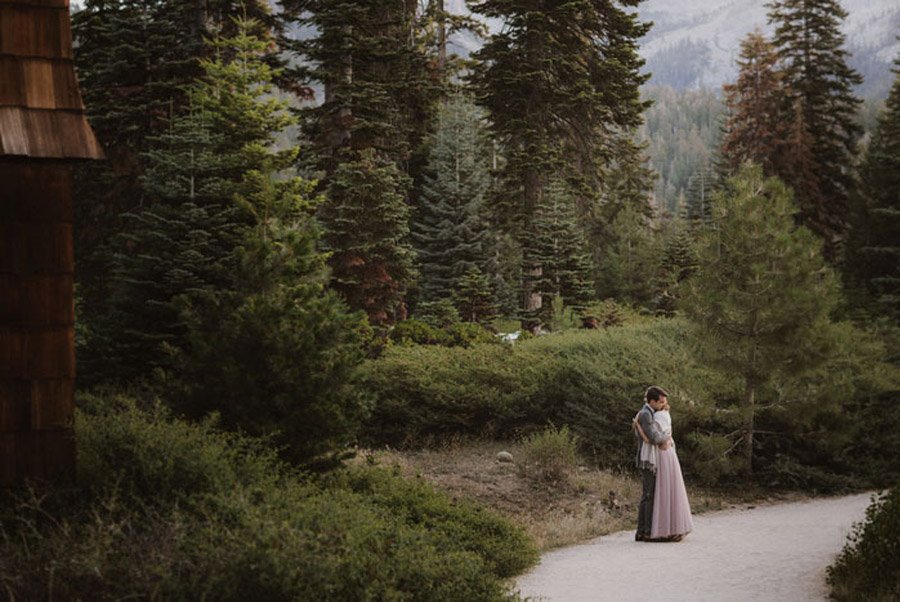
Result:
[[[501,451],[511,453],[514,462],[498,461]],[[518,443],[457,441],[419,451],[361,450],[357,461],[397,466],[405,475],[426,479],[456,499],[477,500],[525,527],[541,551],[634,528],[641,496],[635,472],[580,466],[565,479],[546,482],[525,473],[516,462],[521,455]],[[694,514],[805,497],[745,488],[708,491],[690,483],[688,493]]]

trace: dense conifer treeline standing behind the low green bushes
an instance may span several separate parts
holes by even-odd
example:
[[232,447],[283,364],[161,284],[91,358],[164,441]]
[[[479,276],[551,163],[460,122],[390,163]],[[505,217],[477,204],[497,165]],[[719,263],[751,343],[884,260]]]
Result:
[[[435,1],[87,2],[79,72],[111,160],[80,174],[82,382],[140,383],[318,466],[370,411],[365,356],[477,345],[498,317],[615,323],[611,298],[780,362],[798,348],[778,326],[790,316],[880,316],[891,336],[896,85],[857,170],[843,11],[772,3],[775,36],[748,36],[723,112],[712,92],[641,99],[634,4],[483,1],[463,19]],[[507,27],[456,60],[448,37],[477,18]],[[827,265],[785,274],[838,272],[756,295],[786,256],[752,256],[765,236],[824,249]],[[845,291],[818,291],[839,276]],[[728,307],[734,290],[762,305]],[[716,332],[745,310],[761,321]],[[750,470],[754,399],[778,362],[747,361],[721,367],[745,379],[732,437]]]

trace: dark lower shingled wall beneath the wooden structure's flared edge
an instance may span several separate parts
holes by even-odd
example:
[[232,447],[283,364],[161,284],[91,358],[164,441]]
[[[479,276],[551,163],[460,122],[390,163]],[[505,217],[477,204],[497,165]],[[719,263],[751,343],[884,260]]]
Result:
[[74,474],[71,167],[0,160],[0,485]]

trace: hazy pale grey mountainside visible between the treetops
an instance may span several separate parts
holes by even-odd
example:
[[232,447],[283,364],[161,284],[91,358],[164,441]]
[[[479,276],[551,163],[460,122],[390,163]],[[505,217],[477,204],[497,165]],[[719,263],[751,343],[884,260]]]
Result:
[[[735,59],[741,39],[755,28],[771,33],[766,23],[767,0],[646,0],[638,7],[653,28],[642,40],[640,52],[652,73],[651,84],[678,90],[718,89],[737,74]],[[865,83],[858,93],[884,97],[893,76],[891,63],[900,54],[900,0],[841,0],[848,12],[844,23],[850,64]],[[449,0],[448,10],[465,14],[465,0]],[[499,29],[500,23],[489,24]],[[461,34],[455,40],[461,54],[481,42]]]

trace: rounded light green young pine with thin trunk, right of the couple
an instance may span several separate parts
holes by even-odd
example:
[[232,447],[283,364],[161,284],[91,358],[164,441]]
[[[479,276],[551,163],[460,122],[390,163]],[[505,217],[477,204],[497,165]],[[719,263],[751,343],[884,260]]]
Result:
[[713,200],[699,267],[681,307],[697,324],[707,361],[744,381],[741,446],[752,471],[759,396],[777,373],[821,361],[819,333],[837,301],[821,244],[796,226],[791,191],[745,164]]

